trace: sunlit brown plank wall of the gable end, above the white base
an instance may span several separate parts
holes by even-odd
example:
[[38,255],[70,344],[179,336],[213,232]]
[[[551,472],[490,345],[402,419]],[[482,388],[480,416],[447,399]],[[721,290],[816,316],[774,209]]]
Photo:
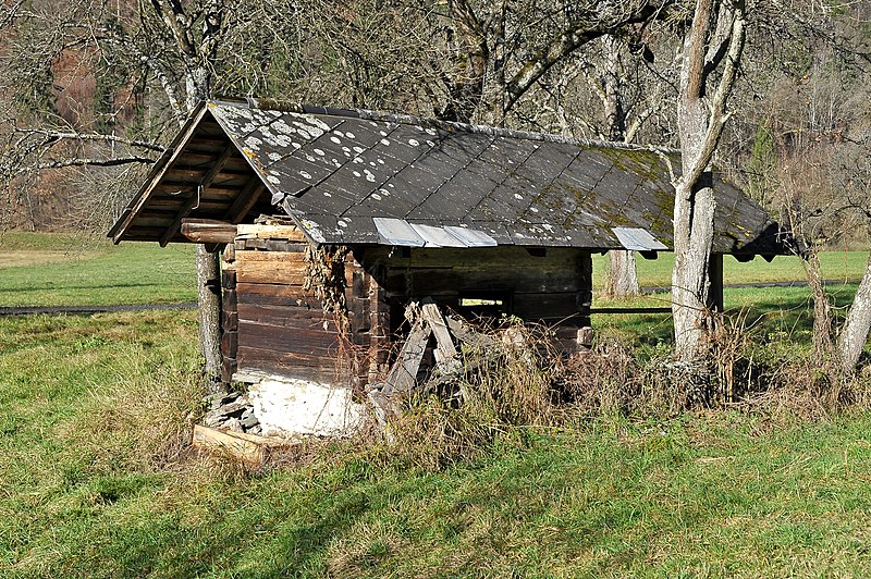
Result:
[[232,262],[224,264],[226,371],[347,383],[336,320],[303,288],[305,249],[304,241],[236,242]]

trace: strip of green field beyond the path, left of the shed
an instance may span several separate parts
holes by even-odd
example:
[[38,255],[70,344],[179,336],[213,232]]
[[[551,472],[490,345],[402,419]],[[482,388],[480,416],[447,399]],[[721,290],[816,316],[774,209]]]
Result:
[[172,304],[196,300],[193,245],[69,234],[0,236],[0,307]]

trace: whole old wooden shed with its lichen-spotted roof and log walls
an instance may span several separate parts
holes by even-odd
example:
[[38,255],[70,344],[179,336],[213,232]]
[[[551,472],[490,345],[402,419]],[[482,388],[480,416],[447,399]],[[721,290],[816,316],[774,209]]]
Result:
[[[668,164],[679,172],[674,150],[209,101],[109,235],[223,250],[226,380],[361,387],[425,297],[574,338],[589,325],[592,252],[671,249]],[[712,271],[723,254],[784,252],[758,204],[719,176],[715,194]]]

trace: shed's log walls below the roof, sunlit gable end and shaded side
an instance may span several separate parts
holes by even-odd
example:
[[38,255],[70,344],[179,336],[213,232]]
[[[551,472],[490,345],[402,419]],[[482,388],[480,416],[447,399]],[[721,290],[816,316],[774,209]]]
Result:
[[[458,309],[464,296],[508,296],[508,313],[526,321],[589,325],[589,252],[522,247],[392,249],[357,247],[345,263],[347,333],[304,290],[302,235],[236,237],[224,251],[224,379],[259,370],[326,384],[383,378],[405,306],[432,297]],[[346,336],[346,337],[345,337]]]

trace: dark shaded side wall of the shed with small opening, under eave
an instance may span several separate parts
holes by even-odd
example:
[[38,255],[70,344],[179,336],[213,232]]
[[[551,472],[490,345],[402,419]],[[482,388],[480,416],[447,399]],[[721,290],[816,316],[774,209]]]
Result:
[[[535,255],[533,255],[535,254]],[[588,251],[523,247],[427,249],[404,251],[370,247],[361,256],[364,268],[378,278],[384,301],[393,307],[431,296],[456,308],[462,296],[511,296],[512,313],[526,321],[589,325],[585,309],[592,299],[592,261]]]

